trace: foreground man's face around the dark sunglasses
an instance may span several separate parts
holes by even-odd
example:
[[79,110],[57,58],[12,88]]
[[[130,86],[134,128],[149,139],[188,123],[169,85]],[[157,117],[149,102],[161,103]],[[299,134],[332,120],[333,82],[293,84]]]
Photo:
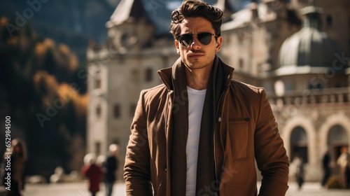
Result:
[[[214,28],[209,20],[196,17],[185,18],[180,25],[181,34],[200,34],[203,32],[215,34]],[[215,36],[211,36],[211,42],[208,45],[201,43],[197,36],[193,36],[192,43],[187,46],[182,45],[176,39],[175,46],[177,53],[181,56],[181,61],[190,69],[202,69],[214,62],[216,52],[221,49],[223,38],[218,37],[216,41]]]

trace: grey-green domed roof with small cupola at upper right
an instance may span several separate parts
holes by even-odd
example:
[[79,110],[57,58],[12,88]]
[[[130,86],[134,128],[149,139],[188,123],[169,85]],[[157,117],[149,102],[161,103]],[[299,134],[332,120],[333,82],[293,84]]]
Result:
[[[279,50],[280,69],[302,69],[305,72],[320,71],[320,69],[332,66],[335,53],[341,53],[341,49],[324,31],[321,31],[321,8],[308,6],[303,8],[304,27],[283,42]],[[305,69],[308,68],[308,69]],[[281,71],[281,70],[280,70]],[[294,71],[295,72],[295,71]],[[296,71],[300,73],[299,71]]]

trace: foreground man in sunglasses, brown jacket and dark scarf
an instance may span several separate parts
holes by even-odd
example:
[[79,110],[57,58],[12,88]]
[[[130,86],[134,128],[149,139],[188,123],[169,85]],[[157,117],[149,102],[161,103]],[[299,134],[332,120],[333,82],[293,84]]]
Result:
[[127,195],[285,195],[288,157],[265,90],[221,62],[223,12],[183,1],[171,32],[180,58],[141,92],[131,125]]

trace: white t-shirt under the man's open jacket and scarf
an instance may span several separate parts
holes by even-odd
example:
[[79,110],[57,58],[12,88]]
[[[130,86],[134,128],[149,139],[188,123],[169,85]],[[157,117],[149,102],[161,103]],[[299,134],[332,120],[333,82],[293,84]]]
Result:
[[197,158],[200,144],[200,123],[205,93],[207,90],[195,90],[187,87],[188,92],[188,139],[186,144],[187,173],[186,196],[196,195]]

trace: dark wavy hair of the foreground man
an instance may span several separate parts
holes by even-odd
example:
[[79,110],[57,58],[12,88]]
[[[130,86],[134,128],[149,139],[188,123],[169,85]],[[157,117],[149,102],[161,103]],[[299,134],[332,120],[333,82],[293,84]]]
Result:
[[170,33],[176,38],[180,35],[180,25],[183,19],[188,17],[202,17],[211,22],[215,34],[221,36],[221,24],[223,23],[223,11],[203,1],[186,0],[181,6],[172,12]]

